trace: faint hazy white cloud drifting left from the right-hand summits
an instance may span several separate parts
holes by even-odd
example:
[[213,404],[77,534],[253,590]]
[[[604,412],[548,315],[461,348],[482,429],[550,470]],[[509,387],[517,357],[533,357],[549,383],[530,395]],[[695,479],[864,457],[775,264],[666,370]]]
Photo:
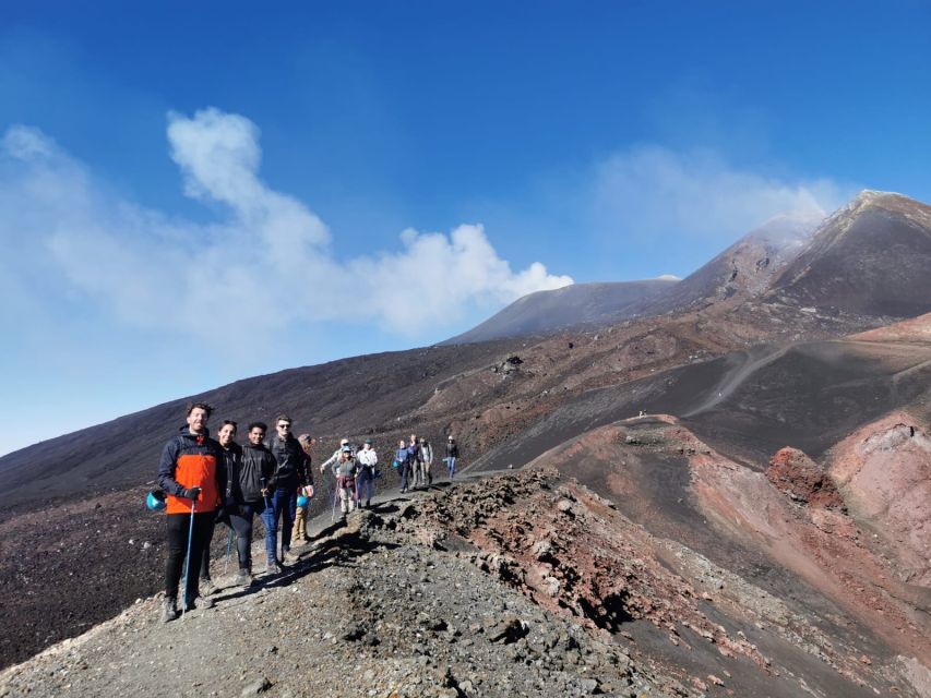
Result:
[[780,214],[824,217],[854,188],[828,179],[789,182],[761,176],[713,151],[645,145],[600,163],[590,190],[589,215],[608,234],[726,243]]

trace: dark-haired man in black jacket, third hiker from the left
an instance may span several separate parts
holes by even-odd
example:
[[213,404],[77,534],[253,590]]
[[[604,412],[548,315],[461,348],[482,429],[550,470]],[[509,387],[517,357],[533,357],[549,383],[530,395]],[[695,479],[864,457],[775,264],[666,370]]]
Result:
[[[242,446],[242,457],[236,471],[229,473],[229,525],[236,531],[236,554],[239,558],[239,571],[234,583],[243,586],[252,581],[252,522],[255,514],[265,510],[265,497],[262,490],[275,474],[277,462],[265,446],[264,422],[252,422],[247,432],[247,442]],[[275,563],[277,538],[275,530],[265,527],[266,559]],[[275,568],[277,563],[273,564]],[[267,565],[266,565],[267,567]]]

